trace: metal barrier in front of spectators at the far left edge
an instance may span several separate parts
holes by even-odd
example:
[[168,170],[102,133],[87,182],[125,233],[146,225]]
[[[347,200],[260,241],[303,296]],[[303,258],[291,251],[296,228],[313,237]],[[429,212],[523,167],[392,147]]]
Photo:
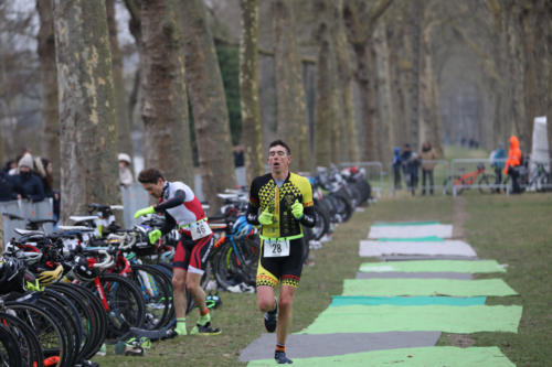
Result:
[[[29,219],[53,219],[53,199],[49,197],[39,203],[26,199],[0,202],[0,213],[2,213],[3,241],[8,244],[11,238],[19,237],[14,231],[15,228],[25,228],[25,220],[10,218],[8,214]],[[43,229],[51,233],[53,225],[44,224]]]

